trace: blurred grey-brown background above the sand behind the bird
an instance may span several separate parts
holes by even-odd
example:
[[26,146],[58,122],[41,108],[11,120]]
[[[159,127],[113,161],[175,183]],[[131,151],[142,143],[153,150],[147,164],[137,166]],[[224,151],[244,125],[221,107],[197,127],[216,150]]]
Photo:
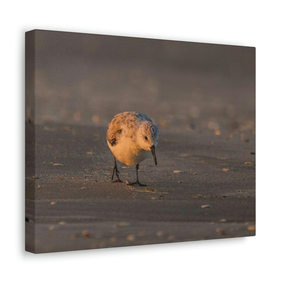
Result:
[[107,126],[124,111],[174,131],[255,130],[255,48],[36,30],[26,119]]

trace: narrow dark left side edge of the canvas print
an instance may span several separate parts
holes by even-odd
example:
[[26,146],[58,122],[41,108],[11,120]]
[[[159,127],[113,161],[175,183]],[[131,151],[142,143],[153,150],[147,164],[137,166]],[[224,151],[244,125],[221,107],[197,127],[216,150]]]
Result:
[[35,31],[25,33],[25,250],[35,253]]

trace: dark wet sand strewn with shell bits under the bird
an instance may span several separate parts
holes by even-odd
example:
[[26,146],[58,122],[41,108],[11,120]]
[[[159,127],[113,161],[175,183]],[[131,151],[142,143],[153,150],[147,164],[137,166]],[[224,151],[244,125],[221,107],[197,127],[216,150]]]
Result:
[[[35,127],[34,152],[31,140],[26,147],[26,237],[35,243],[27,250],[42,253],[255,235],[252,130],[242,136],[234,132],[231,138],[229,127],[223,127],[220,135],[208,129],[185,133],[161,129],[157,166],[153,159],[140,164],[139,180],[147,187],[127,186],[125,181],[135,179],[135,167],[119,162],[124,183],[109,182],[113,158],[106,130],[99,125]],[[35,167],[27,162],[33,153]]]

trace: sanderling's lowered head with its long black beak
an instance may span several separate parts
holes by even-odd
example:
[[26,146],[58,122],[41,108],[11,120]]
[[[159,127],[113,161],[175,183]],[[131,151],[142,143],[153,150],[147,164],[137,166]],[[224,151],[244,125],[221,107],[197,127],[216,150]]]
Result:
[[138,129],[138,144],[141,149],[151,151],[155,165],[155,147],[158,143],[159,130],[158,128],[149,121],[143,121]]

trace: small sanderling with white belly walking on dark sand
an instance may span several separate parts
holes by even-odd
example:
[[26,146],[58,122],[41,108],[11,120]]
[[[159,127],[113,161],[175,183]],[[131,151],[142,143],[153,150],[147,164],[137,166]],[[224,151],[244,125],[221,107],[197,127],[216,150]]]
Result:
[[107,143],[113,153],[114,172],[117,179],[113,182],[122,182],[119,178],[116,158],[126,164],[135,165],[137,181],[128,185],[141,184],[138,180],[139,163],[153,155],[154,163],[157,165],[155,147],[158,142],[159,130],[146,115],[138,112],[124,112],[117,114],[108,124]]

